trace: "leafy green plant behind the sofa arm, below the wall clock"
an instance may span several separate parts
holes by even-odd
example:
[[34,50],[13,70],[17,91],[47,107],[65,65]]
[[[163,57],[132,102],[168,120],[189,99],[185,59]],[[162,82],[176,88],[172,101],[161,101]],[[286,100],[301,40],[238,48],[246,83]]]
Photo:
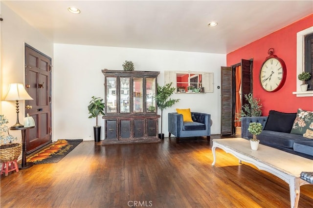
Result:
[[245,94],[245,98],[248,104],[244,104],[240,110],[240,114],[236,115],[236,118],[241,121],[242,117],[254,117],[262,115],[262,104],[258,98],[253,98],[252,93]]

